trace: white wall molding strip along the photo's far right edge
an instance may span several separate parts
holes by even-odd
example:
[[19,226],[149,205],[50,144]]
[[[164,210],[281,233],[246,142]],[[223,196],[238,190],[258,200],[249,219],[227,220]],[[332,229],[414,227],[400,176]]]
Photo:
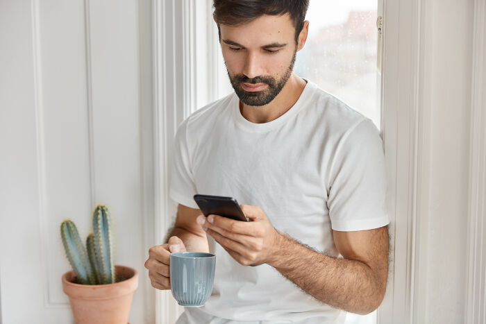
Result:
[[486,101],[484,79],[486,76],[485,0],[474,1],[473,64],[471,90],[471,133],[469,135],[469,210],[467,255],[466,312],[464,323],[486,321]]

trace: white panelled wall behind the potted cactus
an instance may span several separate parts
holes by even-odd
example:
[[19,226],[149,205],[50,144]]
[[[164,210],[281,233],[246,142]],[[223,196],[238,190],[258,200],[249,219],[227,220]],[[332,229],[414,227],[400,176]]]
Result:
[[61,286],[71,266],[60,223],[72,219],[85,241],[98,203],[113,216],[115,264],[140,274],[130,322],[151,316],[142,141],[146,130],[152,136],[152,110],[139,94],[137,3],[0,2],[5,324],[74,323]]

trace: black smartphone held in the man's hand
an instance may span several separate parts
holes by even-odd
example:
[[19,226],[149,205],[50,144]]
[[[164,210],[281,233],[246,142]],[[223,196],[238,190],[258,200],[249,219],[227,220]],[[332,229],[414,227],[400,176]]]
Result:
[[229,219],[235,219],[236,221],[249,221],[233,197],[195,194],[194,201],[196,201],[204,216],[215,214],[228,217]]

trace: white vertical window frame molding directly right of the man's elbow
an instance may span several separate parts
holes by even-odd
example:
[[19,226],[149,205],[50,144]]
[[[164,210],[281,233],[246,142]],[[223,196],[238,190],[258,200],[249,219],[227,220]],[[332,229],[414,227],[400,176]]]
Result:
[[424,6],[421,0],[383,4],[382,138],[391,221],[387,292],[378,309],[383,324],[421,323],[424,310],[428,176],[421,166],[429,162],[430,140],[422,89]]

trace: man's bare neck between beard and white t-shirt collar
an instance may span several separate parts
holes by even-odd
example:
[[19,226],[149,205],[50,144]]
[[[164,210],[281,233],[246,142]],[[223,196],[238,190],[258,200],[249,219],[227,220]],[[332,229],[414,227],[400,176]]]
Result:
[[292,108],[301,96],[305,87],[305,80],[292,73],[282,91],[267,105],[259,107],[245,105],[240,101],[242,116],[252,123],[268,123],[282,116]]

